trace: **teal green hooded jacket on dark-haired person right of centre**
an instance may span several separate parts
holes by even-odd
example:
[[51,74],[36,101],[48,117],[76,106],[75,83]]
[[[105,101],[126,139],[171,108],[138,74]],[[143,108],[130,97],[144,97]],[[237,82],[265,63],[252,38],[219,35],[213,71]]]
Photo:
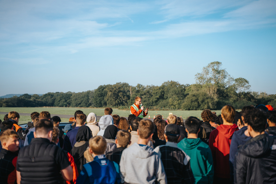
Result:
[[191,157],[190,163],[195,177],[195,184],[212,184],[214,168],[209,146],[202,142],[200,138],[184,138],[177,146]]

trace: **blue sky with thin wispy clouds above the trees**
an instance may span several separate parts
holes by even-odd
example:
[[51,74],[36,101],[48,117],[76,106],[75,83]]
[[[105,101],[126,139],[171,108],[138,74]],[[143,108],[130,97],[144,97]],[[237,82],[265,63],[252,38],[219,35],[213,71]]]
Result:
[[0,0],[0,96],[194,84],[220,61],[276,93],[276,0]]

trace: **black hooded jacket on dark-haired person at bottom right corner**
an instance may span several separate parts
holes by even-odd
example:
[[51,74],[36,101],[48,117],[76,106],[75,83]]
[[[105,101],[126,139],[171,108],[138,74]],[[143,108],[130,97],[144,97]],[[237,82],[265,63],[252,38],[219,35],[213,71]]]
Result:
[[276,138],[267,133],[247,141],[236,154],[235,184],[276,183]]

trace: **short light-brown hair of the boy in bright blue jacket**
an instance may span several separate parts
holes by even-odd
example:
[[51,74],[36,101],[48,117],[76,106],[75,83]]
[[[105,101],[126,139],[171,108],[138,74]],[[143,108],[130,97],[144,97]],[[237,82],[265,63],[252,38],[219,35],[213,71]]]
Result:
[[104,154],[106,149],[106,140],[102,136],[95,136],[91,137],[89,139],[89,148],[95,153],[95,154]]

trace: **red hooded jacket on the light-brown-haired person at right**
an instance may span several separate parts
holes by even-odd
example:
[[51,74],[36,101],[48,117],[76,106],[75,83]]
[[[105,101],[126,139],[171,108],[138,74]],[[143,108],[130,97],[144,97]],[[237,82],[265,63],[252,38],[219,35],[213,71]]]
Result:
[[230,179],[229,152],[236,124],[220,125],[210,133],[209,147],[213,156],[214,176]]

